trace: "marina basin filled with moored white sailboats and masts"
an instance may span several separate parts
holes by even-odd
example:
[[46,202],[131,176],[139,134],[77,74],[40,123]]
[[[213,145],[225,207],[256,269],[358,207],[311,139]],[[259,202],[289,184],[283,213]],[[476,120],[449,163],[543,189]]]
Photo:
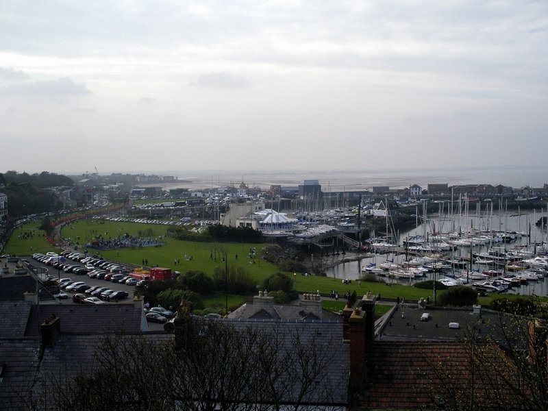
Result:
[[[481,226],[485,218],[474,216],[468,223],[471,227]],[[410,242],[403,240],[395,252],[375,253],[373,257],[343,262],[325,272],[327,276],[341,281],[356,280],[366,273],[373,273],[386,282],[387,286],[412,286],[417,282],[435,279],[446,286],[473,286],[478,292],[547,295],[546,227],[534,225],[540,214],[495,215],[492,218],[505,222],[508,232],[513,233],[512,240],[504,241],[503,236],[497,238],[494,232],[461,227],[458,238],[462,240],[449,240],[451,247],[443,252],[437,250],[436,253],[419,253],[415,249],[409,252]],[[458,217],[449,221],[449,217],[444,215],[442,219],[451,227],[453,223],[458,223]],[[432,238],[432,233],[429,232],[433,226],[431,223],[417,225],[415,229],[403,233],[401,238],[425,238],[426,236],[421,237],[425,232]],[[436,234],[434,238],[437,240],[440,233]],[[444,235],[451,238],[450,232]]]

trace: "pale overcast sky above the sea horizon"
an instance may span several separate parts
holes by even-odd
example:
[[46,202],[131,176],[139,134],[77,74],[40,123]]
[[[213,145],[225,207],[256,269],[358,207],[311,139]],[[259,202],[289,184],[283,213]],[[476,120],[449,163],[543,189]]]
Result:
[[548,1],[0,0],[0,171],[548,158]]

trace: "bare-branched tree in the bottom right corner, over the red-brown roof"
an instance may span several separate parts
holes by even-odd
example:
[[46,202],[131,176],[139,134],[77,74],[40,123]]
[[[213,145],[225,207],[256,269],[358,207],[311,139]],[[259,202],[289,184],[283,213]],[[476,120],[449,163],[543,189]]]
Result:
[[477,317],[460,345],[466,367],[451,357],[425,353],[445,410],[548,410],[548,308],[532,297],[534,312]]

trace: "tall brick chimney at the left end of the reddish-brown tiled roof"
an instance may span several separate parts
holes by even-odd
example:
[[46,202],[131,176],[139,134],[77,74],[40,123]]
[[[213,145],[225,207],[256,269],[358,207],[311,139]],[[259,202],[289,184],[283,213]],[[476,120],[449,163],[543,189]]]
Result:
[[[368,292],[360,301],[360,308],[354,308],[346,320],[350,340],[350,386],[354,390],[362,389],[362,377],[365,364],[365,346],[375,335],[375,297]],[[343,316],[347,315],[347,309]],[[343,323],[343,336],[345,325]]]

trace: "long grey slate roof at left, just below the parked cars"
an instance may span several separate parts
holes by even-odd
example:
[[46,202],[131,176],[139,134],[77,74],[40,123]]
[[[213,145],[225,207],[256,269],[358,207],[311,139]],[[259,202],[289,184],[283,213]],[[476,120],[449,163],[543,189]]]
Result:
[[52,314],[60,319],[64,334],[134,334],[140,332],[143,315],[133,304],[34,306],[26,335],[38,335],[38,325]]

